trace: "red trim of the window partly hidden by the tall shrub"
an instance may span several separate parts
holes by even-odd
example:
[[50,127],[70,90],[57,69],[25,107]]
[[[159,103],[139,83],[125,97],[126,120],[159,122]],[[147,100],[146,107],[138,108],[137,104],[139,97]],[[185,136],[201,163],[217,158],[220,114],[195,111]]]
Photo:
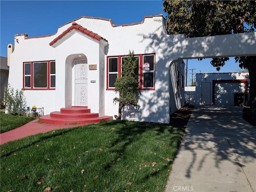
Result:
[[[152,88],[142,88],[143,87],[143,56],[145,55],[154,55],[154,87]],[[111,57],[118,57],[118,78],[120,78],[120,71],[121,71],[121,63],[122,63],[122,57],[127,57],[128,55],[111,55],[107,56],[107,67],[106,67],[106,73],[107,73],[107,81],[106,81],[106,90],[113,91],[115,90],[114,87],[109,88],[108,87],[108,59]],[[155,83],[156,83],[156,53],[145,53],[145,54],[134,54],[134,56],[139,56],[139,88],[140,90],[155,90]]]

